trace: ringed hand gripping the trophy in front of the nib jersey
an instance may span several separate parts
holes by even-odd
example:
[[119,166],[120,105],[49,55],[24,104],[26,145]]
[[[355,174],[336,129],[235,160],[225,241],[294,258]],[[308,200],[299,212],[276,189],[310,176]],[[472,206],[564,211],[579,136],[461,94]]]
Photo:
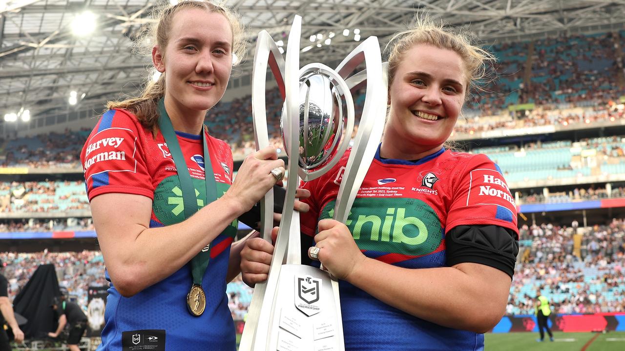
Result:
[[334,219],[322,219],[317,226],[319,234],[315,235],[314,241],[317,243],[315,246],[319,247],[319,261],[337,279],[349,280],[349,275],[366,260],[366,256],[356,245],[346,225]]

